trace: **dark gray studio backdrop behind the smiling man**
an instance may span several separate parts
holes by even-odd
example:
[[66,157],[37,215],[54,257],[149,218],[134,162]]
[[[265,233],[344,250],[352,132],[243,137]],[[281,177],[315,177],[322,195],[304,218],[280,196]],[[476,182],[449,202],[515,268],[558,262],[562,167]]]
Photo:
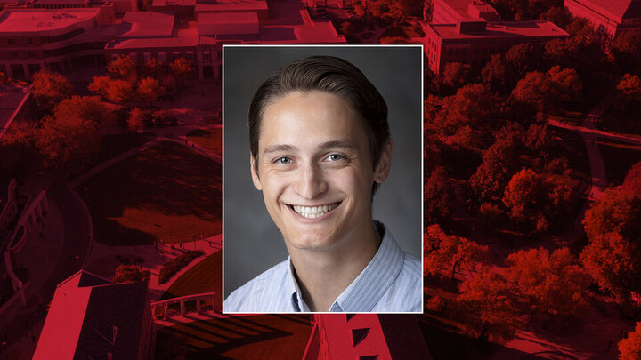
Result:
[[265,209],[263,195],[251,181],[247,110],[254,92],[270,73],[312,55],[332,55],[352,62],[385,98],[394,156],[390,176],[374,196],[373,218],[385,223],[403,250],[421,257],[421,48],[224,46],[224,298],[288,258],[280,231]]

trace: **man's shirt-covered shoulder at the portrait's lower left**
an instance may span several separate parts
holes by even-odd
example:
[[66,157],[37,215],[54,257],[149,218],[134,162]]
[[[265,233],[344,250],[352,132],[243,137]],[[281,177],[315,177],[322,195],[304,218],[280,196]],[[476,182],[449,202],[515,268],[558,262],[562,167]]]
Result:
[[225,312],[251,312],[264,308],[264,302],[287,278],[288,266],[289,260],[284,260],[231,292],[224,300]]

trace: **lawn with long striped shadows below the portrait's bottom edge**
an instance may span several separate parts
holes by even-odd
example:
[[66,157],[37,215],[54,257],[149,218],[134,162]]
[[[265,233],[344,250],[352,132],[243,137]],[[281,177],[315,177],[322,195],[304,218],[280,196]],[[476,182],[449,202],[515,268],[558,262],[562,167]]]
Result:
[[212,319],[158,331],[156,358],[300,359],[310,316],[259,315]]

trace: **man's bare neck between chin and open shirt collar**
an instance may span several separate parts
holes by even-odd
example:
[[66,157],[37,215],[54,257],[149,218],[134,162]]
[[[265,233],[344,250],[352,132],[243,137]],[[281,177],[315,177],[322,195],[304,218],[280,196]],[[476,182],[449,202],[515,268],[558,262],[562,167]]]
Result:
[[290,249],[298,286],[311,311],[329,311],[338,295],[361,274],[381,243],[369,223],[352,241],[329,250]]

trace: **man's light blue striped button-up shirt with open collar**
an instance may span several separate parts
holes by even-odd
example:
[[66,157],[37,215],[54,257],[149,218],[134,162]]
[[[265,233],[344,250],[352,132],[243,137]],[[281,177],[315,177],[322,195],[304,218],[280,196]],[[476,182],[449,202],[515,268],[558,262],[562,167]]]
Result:
[[[420,261],[403,252],[389,229],[377,253],[352,284],[338,295],[330,312],[421,312],[423,295]],[[225,312],[309,312],[290,260],[270,268],[231,292]]]

